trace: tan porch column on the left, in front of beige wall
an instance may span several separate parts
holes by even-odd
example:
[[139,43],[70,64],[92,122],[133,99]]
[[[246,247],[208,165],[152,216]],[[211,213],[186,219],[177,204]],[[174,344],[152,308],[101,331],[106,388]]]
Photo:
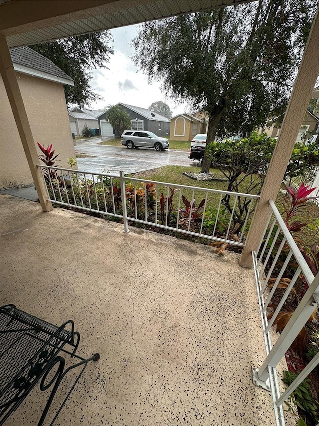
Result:
[[53,209],[52,203],[47,201],[47,191],[41,171],[37,169],[36,164],[39,158],[34,143],[30,123],[25,111],[19,84],[13,68],[10,52],[6,38],[0,34],[0,73],[4,82],[5,90],[9,98],[13,116],[19,135],[22,141],[23,149],[30,167],[33,181],[39,196],[39,200],[44,212]]

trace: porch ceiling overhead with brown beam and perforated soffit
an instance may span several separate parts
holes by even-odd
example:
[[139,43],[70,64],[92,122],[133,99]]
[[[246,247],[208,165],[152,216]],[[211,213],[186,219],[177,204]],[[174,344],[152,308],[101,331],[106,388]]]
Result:
[[255,0],[0,1],[0,33],[9,47],[133,25]]

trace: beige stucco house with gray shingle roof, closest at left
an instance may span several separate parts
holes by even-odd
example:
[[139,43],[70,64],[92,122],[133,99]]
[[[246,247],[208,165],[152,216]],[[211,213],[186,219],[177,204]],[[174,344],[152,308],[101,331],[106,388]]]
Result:
[[[59,153],[57,164],[68,167],[66,160],[75,157],[75,151],[63,85],[73,86],[74,81],[29,47],[12,48],[10,54],[35,143],[52,144]],[[1,76],[0,99],[0,188],[31,184],[32,175]]]

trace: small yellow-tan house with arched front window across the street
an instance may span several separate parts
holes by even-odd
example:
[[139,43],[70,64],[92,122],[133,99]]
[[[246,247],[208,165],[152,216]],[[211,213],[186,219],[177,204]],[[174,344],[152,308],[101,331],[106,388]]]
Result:
[[178,114],[171,119],[170,139],[190,141],[198,133],[206,133],[208,129],[208,119],[201,116],[200,112],[194,115]]

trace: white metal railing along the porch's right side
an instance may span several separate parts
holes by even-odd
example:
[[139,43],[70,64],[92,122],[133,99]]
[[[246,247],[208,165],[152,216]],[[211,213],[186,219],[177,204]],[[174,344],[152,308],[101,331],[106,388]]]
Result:
[[[319,358],[317,354],[283,394],[280,394],[276,366],[285,356],[285,353],[307,323],[318,304],[319,276],[317,274],[314,277],[277,210],[275,203],[270,200],[269,204],[272,210],[269,222],[258,250],[252,252],[267,355],[259,369],[253,368],[253,381],[257,386],[271,391],[276,425],[284,426],[283,403],[318,365]],[[286,278],[287,268],[289,268],[288,274],[291,278],[286,280],[285,285],[280,285],[282,278]],[[301,277],[303,277],[302,282]],[[271,282],[270,279],[272,279]],[[294,313],[281,334],[277,335],[277,340],[273,345],[270,329],[275,323],[279,312],[285,309],[285,303],[287,303],[288,296],[292,295],[292,289],[298,285],[301,285],[300,288],[303,290],[302,293],[304,295],[299,300],[299,303],[297,302],[298,305]],[[285,291],[283,291],[283,287],[287,287]],[[270,318],[269,305],[279,288],[282,288],[283,295],[279,301],[277,299],[276,303],[278,305],[276,309],[273,308],[274,313]],[[275,306],[276,303],[274,304]]]

